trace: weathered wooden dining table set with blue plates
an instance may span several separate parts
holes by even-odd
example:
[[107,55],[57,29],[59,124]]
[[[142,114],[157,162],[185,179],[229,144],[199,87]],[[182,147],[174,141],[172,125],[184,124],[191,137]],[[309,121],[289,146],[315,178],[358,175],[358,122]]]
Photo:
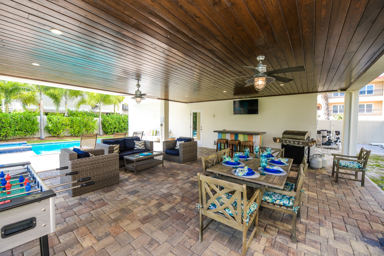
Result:
[[[240,159],[239,162],[243,162],[246,166],[251,168],[256,173],[261,173],[258,168],[260,166],[260,157],[256,157],[256,154],[249,154],[253,159],[250,159],[248,161],[245,161],[245,159]],[[272,175],[272,174],[266,174],[266,175],[260,175],[257,178],[245,178],[245,177],[239,177],[232,173],[232,170],[235,170],[235,168],[230,166],[225,166],[222,164],[214,165],[213,167],[208,168],[207,172],[212,172],[218,174],[222,180],[226,180],[229,182],[234,182],[238,184],[245,184],[247,187],[253,187],[260,188],[260,195],[264,194],[265,187],[275,187],[275,188],[284,188],[285,182],[288,177],[288,173],[291,169],[293,159],[288,158],[288,165],[286,166],[280,166],[283,170],[285,170],[286,175]],[[252,227],[250,228],[250,230]],[[266,233],[264,230],[260,230],[258,228],[258,234],[261,236],[264,236],[265,238],[269,238],[269,234]]]

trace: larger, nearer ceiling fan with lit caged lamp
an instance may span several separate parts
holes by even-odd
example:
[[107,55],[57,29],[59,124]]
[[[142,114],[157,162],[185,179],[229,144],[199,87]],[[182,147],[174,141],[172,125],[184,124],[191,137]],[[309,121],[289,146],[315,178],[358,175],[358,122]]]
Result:
[[[293,68],[283,68],[283,69],[266,71],[266,65],[263,65],[263,62],[262,62],[264,60],[264,58],[265,58],[264,55],[257,56],[257,60],[259,61],[259,64],[257,65],[256,68],[255,67],[244,66],[245,68],[248,68],[248,69],[250,69],[251,71],[253,71],[255,73],[255,74],[253,74],[253,78],[248,79],[247,81],[245,81],[247,83],[247,85],[245,85],[245,87],[254,85],[255,89],[257,91],[261,91],[264,88],[265,84],[272,83],[275,80],[283,82],[283,83],[288,83],[288,82],[293,80],[293,79],[285,78],[285,77],[281,77],[281,76],[274,76],[272,74],[281,74],[281,73],[305,71],[304,66],[298,66],[298,67],[293,67]],[[239,76],[239,77],[236,77],[236,78],[243,78],[243,77],[248,77],[248,76]],[[222,81],[230,80],[230,79],[235,79],[235,78],[224,79]]]

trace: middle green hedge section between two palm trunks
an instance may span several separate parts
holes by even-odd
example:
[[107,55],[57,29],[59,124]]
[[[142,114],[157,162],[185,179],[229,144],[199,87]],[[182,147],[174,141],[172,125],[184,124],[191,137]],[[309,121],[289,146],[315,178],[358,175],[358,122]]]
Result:
[[63,114],[51,113],[47,116],[47,125],[45,130],[53,136],[60,137],[68,129],[72,136],[80,136],[81,134],[94,133],[97,127],[97,120],[94,120],[93,116],[75,113],[71,111],[71,116],[64,117]]

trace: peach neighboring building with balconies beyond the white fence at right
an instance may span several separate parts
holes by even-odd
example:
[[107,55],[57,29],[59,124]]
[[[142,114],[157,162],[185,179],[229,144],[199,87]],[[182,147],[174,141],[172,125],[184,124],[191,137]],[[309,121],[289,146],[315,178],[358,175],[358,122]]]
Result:
[[[361,121],[383,121],[383,81],[384,74],[360,89],[359,95],[359,120]],[[332,116],[344,113],[344,92],[328,93],[329,111]],[[317,97],[318,119],[324,120],[323,100],[321,94]]]

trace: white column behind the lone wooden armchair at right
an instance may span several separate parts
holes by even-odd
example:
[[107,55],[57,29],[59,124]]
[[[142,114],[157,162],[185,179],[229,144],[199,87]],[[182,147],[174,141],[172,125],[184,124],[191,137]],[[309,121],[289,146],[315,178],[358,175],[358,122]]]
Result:
[[359,119],[359,91],[344,93],[343,155],[356,155]]

